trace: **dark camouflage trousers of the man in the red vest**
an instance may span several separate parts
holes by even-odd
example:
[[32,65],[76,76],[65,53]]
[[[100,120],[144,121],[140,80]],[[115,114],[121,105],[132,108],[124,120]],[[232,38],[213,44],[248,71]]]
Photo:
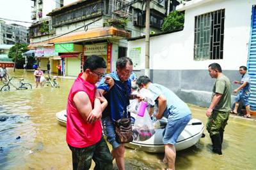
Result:
[[68,145],[72,151],[73,169],[90,169],[92,160],[94,169],[113,169],[113,157],[103,136],[98,143],[85,148],[75,148]]

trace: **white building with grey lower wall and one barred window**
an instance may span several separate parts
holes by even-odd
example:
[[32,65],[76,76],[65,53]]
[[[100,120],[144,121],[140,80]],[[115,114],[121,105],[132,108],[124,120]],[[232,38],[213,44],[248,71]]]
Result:
[[[177,10],[185,10],[184,29],[150,38],[152,81],[172,89],[187,103],[209,106],[214,83],[209,64],[218,62],[230,81],[241,79],[239,66],[248,66],[252,78],[250,103],[255,105],[255,4],[250,0],[197,0],[177,6]],[[237,13],[238,8],[241,13]],[[128,55],[136,61],[138,74],[143,74],[145,38],[129,39]]]

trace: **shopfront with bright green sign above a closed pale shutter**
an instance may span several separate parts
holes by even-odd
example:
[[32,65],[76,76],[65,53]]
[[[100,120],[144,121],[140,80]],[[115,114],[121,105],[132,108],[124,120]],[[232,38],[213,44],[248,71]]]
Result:
[[81,73],[82,45],[63,43],[55,45],[55,52],[61,57],[63,76],[77,76]]

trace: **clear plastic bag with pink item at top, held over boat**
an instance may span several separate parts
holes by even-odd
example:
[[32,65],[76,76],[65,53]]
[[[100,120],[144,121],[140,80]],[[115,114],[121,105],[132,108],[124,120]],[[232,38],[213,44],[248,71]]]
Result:
[[134,141],[146,141],[155,134],[152,120],[147,111],[147,103],[141,102],[140,109],[136,115],[132,127],[132,137]]

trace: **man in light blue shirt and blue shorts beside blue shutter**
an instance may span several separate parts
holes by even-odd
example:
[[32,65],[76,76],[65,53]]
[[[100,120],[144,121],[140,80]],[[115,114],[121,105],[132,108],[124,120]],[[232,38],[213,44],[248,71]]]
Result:
[[237,109],[239,107],[239,101],[243,101],[243,104],[246,109],[246,115],[244,117],[251,118],[250,115],[250,103],[249,103],[249,97],[250,97],[250,76],[247,72],[246,66],[240,66],[239,67],[239,73],[242,74],[241,81],[234,81],[233,83],[239,84],[240,86],[235,89],[233,92],[236,94],[239,90],[239,94],[236,96],[236,104],[235,108],[232,111],[232,113],[237,114]]

